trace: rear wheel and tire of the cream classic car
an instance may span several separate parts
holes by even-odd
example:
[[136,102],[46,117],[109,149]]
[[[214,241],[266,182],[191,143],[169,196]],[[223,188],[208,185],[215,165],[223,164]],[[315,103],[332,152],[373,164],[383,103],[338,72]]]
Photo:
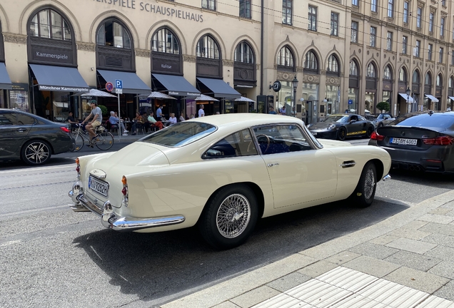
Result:
[[219,250],[246,242],[256,226],[257,199],[247,187],[230,185],[219,190],[206,204],[198,222],[201,235]]

